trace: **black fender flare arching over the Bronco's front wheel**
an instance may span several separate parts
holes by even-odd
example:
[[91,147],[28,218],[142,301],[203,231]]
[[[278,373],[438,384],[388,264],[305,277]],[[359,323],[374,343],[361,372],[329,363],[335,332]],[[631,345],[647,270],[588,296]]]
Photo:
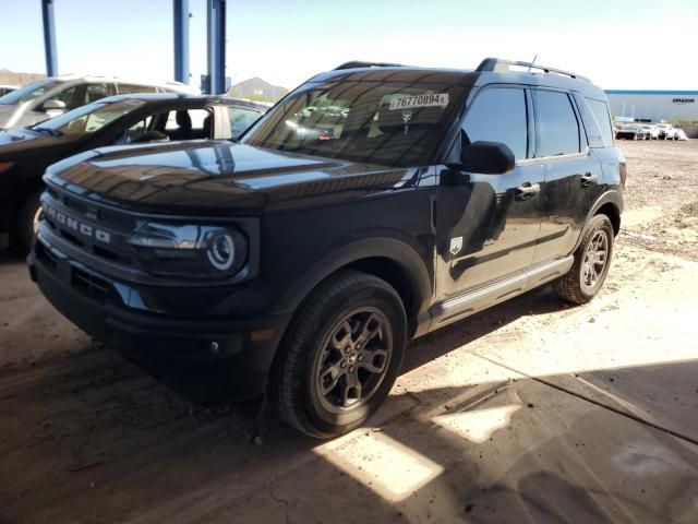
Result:
[[[279,311],[294,311],[308,295],[338,270],[364,259],[388,259],[407,275],[414,299],[414,314],[426,311],[432,299],[432,278],[424,261],[410,245],[389,237],[371,237],[342,243],[316,261],[287,289],[278,302]],[[409,315],[408,311],[408,315]]]

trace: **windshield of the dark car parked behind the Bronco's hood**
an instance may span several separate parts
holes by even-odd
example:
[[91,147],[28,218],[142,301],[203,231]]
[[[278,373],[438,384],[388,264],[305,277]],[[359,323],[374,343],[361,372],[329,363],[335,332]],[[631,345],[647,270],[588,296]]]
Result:
[[48,129],[55,134],[71,136],[83,135],[99,131],[105,126],[118,118],[137,109],[144,100],[127,99],[119,102],[93,102],[86,106],[77,107],[56,118],[34,126],[32,129]]

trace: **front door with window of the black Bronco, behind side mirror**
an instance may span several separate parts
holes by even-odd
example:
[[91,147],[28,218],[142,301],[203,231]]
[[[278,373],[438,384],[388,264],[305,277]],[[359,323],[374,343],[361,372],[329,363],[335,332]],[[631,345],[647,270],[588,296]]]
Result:
[[461,124],[464,143],[502,142],[516,158],[505,175],[442,171],[437,196],[437,301],[533,262],[544,180],[532,157],[532,106],[517,86],[480,91]]

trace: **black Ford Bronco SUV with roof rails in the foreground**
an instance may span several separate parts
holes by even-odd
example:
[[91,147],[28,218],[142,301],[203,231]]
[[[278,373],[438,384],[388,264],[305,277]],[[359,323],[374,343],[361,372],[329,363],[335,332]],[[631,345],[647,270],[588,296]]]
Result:
[[552,282],[599,291],[621,225],[606,97],[573,73],[350,62],[227,141],[89,151],[46,172],[33,278],[203,401],[361,425],[408,340]]

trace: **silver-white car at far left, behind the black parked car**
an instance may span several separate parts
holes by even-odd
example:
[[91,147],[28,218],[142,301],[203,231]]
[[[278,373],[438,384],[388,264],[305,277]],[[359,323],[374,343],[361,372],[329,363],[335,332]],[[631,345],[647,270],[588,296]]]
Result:
[[191,88],[180,82],[158,84],[110,76],[49,76],[0,97],[0,130],[34,126],[107,96],[190,92]]

